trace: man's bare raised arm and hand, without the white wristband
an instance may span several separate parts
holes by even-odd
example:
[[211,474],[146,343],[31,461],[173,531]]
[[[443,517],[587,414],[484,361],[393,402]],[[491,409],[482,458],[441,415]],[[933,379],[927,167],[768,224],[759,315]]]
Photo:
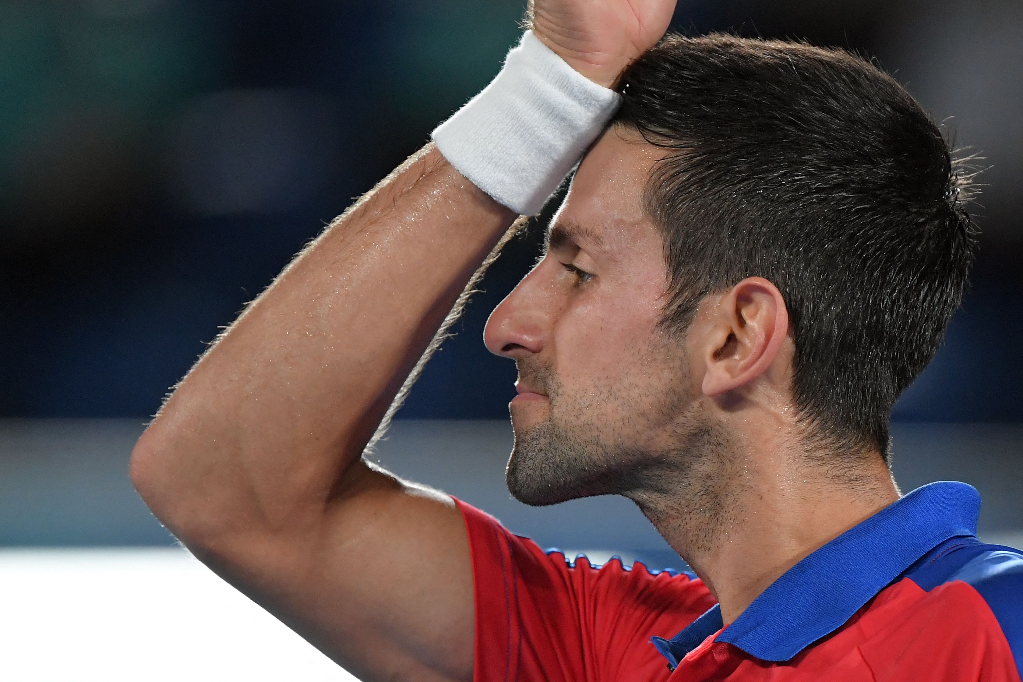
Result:
[[[542,42],[608,85],[674,0],[537,5]],[[460,514],[360,455],[516,215],[428,145],[249,306],[132,454],[143,499],[196,556],[362,679],[473,676]]]

